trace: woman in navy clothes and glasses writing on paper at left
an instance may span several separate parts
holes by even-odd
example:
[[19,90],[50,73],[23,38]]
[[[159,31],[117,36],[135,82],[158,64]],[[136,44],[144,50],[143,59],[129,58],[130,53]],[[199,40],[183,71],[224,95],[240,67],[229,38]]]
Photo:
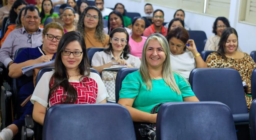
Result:
[[[60,38],[64,34],[63,28],[59,23],[52,22],[45,26],[43,32],[43,44],[36,48],[25,48],[13,64],[9,67],[9,76],[18,78],[18,97],[17,97],[17,120],[0,132],[1,140],[11,140],[15,135],[20,139],[22,126],[25,125],[25,115],[32,115],[33,105],[29,101],[34,91],[33,76],[26,76],[22,73],[23,67],[50,61],[55,58],[57,46]],[[27,102],[24,102],[28,100]]]

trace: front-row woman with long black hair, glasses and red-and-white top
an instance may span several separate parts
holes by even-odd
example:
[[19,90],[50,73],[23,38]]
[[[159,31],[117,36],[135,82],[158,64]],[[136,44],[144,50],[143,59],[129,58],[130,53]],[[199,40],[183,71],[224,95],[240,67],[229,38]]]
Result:
[[90,72],[84,37],[65,33],[55,58],[55,70],[45,72],[31,97],[33,119],[44,124],[48,107],[56,104],[106,103],[107,90],[100,76]]

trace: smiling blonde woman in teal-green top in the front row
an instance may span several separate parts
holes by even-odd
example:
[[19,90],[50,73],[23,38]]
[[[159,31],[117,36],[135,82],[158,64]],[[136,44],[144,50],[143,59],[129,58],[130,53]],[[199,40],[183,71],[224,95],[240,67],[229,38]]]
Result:
[[199,101],[187,80],[172,71],[169,53],[164,36],[159,33],[150,35],[143,47],[139,71],[128,74],[122,82],[118,103],[129,110],[139,140],[143,139],[138,132],[140,124],[156,123],[157,113],[151,114],[156,105]]

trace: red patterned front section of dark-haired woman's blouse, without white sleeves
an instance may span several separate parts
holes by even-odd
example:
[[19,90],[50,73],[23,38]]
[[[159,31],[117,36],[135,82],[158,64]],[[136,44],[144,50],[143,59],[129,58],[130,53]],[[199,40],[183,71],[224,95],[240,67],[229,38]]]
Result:
[[[52,88],[54,81],[50,82],[50,88]],[[71,86],[77,91],[77,100],[74,104],[95,104],[98,92],[98,85],[96,81],[89,77],[84,77],[80,82],[69,82]],[[50,106],[56,104],[63,104],[66,98],[64,88],[59,86],[52,96],[50,97]]]

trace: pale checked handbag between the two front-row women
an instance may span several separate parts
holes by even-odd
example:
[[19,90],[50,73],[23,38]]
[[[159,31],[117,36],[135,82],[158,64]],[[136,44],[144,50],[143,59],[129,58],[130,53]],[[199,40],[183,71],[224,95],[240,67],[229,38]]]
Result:
[[107,100],[115,101],[115,78],[117,76],[117,71],[102,71],[101,75],[101,79],[109,94]]

